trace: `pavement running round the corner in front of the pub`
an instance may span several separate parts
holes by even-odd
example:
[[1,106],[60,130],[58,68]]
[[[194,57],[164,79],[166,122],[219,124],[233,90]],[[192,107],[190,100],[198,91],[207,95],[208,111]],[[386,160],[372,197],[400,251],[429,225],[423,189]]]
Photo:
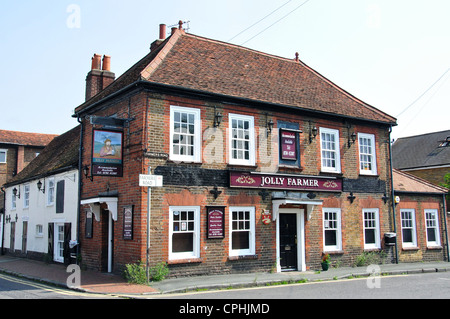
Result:
[[[379,268],[378,268],[379,267]],[[77,291],[114,295],[124,298],[151,298],[154,295],[184,293],[196,290],[244,288],[283,283],[340,280],[364,276],[404,275],[450,271],[449,262],[418,262],[339,267],[327,271],[289,271],[281,273],[226,274],[199,277],[169,278],[149,285],[129,284],[116,274],[81,270],[80,283],[69,280],[72,272],[61,264],[45,263],[12,256],[0,256],[0,273],[14,275]]]

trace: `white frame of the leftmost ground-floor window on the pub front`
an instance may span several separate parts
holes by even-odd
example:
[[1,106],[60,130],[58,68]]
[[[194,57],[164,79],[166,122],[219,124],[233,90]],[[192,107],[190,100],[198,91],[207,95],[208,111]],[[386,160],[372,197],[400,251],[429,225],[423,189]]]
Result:
[[[174,212],[193,211],[194,230],[186,231],[193,234],[193,250],[189,252],[173,252],[173,234],[182,231],[174,231]],[[188,258],[200,258],[200,206],[170,206],[169,207],[169,260],[180,260]]]

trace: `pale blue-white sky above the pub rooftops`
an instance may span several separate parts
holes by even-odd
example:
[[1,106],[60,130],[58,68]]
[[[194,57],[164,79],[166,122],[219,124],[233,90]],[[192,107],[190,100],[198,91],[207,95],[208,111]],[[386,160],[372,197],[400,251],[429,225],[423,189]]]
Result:
[[71,115],[94,53],[111,55],[117,78],[148,53],[160,23],[183,20],[196,35],[286,58],[299,52],[397,117],[394,138],[447,130],[449,12],[448,0],[2,0],[0,128],[66,132],[77,125]]

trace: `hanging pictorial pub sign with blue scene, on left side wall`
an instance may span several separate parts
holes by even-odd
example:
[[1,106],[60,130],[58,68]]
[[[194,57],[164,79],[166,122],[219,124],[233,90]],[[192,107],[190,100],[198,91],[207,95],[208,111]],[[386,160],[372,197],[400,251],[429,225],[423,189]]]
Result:
[[92,175],[122,177],[123,132],[96,130],[92,134]]

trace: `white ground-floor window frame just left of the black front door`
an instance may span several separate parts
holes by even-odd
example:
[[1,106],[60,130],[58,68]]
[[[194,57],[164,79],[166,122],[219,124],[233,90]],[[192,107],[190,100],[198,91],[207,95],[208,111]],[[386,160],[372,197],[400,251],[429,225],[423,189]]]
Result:
[[[233,249],[233,232],[240,230],[233,230],[233,212],[238,211],[249,211],[249,248],[248,249]],[[256,233],[255,233],[255,207],[254,206],[231,206],[228,209],[229,212],[229,256],[251,256],[256,254]]]

